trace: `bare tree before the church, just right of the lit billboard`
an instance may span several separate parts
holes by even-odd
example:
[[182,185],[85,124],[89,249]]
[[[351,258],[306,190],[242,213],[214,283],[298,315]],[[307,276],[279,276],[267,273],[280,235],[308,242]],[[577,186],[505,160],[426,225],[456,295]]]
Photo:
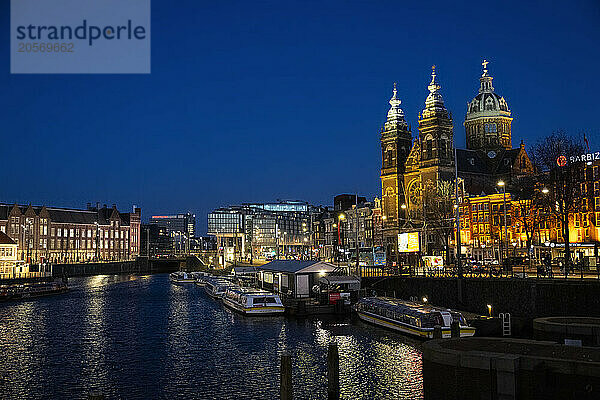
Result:
[[423,188],[423,214],[429,229],[444,245],[446,265],[450,265],[450,238],[454,234],[454,184],[450,181],[438,181]]

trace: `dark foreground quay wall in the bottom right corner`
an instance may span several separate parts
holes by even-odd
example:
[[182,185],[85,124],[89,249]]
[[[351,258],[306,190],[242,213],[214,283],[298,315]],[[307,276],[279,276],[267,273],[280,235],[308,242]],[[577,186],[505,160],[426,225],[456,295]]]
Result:
[[425,399],[597,399],[600,350],[523,339],[423,344]]

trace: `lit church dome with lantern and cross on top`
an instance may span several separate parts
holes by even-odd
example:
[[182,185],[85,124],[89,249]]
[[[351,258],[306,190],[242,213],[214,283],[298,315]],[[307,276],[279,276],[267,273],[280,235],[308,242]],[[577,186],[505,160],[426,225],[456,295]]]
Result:
[[465,132],[469,150],[510,150],[512,148],[510,110],[504,97],[494,92],[488,74],[488,61],[483,60],[479,78],[479,94],[467,104]]

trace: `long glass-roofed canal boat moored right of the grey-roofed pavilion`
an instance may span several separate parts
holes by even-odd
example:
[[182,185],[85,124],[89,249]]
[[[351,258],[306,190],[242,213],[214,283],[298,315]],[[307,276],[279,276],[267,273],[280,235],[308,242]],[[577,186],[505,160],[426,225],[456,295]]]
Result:
[[442,328],[442,338],[451,337],[450,324],[458,321],[460,337],[473,336],[475,328],[458,311],[388,297],[365,297],[354,310],[366,322],[422,339],[433,338],[433,328]]

